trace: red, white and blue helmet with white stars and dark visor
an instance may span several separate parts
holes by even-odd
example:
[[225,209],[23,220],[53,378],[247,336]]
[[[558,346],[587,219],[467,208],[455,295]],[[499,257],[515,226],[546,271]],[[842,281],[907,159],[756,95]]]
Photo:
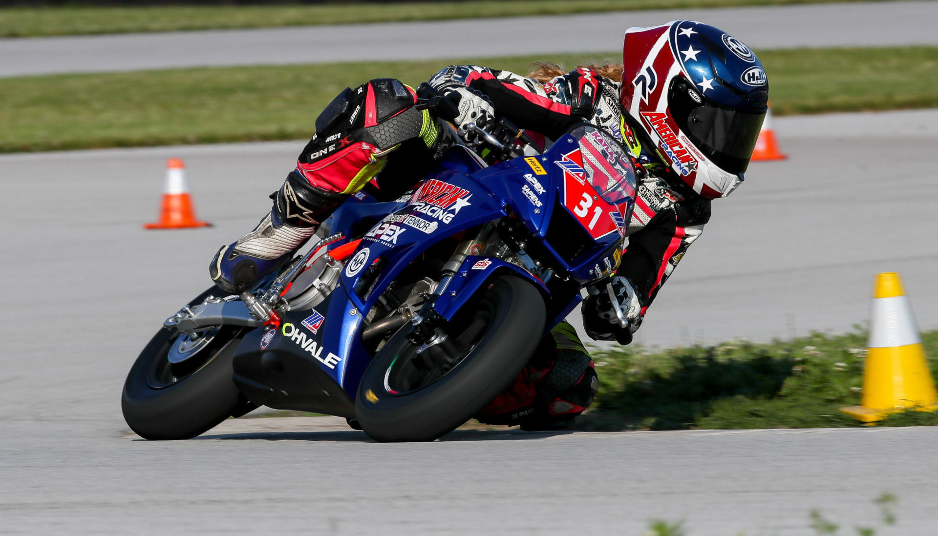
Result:
[[693,21],[629,28],[622,106],[658,156],[705,198],[743,181],[759,138],[768,81],[739,39]]

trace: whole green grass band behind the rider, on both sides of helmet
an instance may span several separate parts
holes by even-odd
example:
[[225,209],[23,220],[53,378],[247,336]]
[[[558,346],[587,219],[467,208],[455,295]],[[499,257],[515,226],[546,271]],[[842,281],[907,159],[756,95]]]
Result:
[[[760,52],[773,112],[938,106],[938,48]],[[342,88],[378,77],[416,85],[451,62],[526,73],[615,61],[567,54],[276,67],[211,67],[0,79],[0,152],[308,138]]]

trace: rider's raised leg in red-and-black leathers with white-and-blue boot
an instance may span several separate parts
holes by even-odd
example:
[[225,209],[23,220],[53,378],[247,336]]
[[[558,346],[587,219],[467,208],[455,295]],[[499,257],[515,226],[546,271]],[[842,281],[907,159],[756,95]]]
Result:
[[209,264],[220,289],[248,290],[302,246],[332,211],[384,168],[403,141],[436,138],[435,121],[416,110],[416,93],[392,79],[346,88],[316,119],[274,206],[254,231],[222,246]]

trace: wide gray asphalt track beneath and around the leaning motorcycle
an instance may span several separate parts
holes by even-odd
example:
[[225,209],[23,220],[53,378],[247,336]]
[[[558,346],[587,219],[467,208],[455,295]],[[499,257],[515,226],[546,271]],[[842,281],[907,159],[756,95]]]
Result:
[[[776,124],[790,158],[754,163],[715,203],[639,341],[844,331],[866,321],[872,276],[886,270],[903,275],[921,327],[938,327],[938,111]],[[235,421],[207,440],[133,440],[118,402],[129,365],[207,287],[215,248],[269,209],[301,146],[0,156],[0,533],[641,534],[661,517],[694,535],[795,535],[813,533],[810,508],[870,525],[883,491],[900,496],[903,524],[883,534],[933,533],[935,429],[377,445]],[[168,156],[186,160],[199,216],[216,227],[141,228]]]

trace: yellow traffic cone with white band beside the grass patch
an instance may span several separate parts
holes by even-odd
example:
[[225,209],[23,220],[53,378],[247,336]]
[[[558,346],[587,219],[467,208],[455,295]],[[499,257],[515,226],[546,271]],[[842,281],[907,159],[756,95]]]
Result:
[[889,413],[938,409],[934,380],[899,274],[876,275],[870,317],[863,398],[860,406],[840,410],[866,424],[875,424]]

